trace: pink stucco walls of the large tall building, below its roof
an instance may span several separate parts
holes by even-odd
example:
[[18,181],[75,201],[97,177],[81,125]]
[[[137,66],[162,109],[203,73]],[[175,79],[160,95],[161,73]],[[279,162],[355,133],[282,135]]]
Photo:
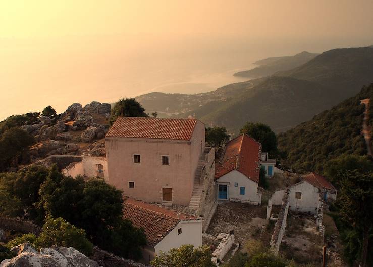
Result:
[[[173,203],[188,205],[194,174],[204,150],[204,124],[197,122],[191,140],[140,138],[106,138],[109,184],[124,194],[149,202],[162,202],[162,188],[172,188]],[[133,162],[140,154],[141,163]],[[169,165],[162,165],[162,156],[169,156]],[[129,188],[135,182],[135,188]]]

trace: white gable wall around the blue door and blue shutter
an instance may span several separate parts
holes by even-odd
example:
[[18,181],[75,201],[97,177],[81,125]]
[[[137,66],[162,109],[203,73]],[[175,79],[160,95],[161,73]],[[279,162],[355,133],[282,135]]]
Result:
[[[261,194],[258,193],[258,183],[252,181],[241,172],[232,170],[217,180],[219,183],[229,183],[228,199],[242,200],[261,204]],[[235,187],[235,183],[238,183]],[[245,195],[240,195],[240,187],[245,187]]]

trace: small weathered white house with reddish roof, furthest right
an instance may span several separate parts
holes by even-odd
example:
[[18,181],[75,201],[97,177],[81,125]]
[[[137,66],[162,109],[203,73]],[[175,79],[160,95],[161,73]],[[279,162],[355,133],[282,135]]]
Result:
[[[324,196],[324,200],[335,200],[337,190],[325,177],[310,173],[302,178],[299,183],[288,187],[290,210],[315,215],[319,207],[320,196]],[[271,198],[272,205],[281,205],[285,190],[284,188],[275,191]]]

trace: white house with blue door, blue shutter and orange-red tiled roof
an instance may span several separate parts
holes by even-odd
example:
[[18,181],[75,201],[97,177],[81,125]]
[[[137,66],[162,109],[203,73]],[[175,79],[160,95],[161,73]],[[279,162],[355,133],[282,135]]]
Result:
[[261,203],[258,192],[260,149],[260,143],[247,135],[226,144],[215,172],[218,200]]

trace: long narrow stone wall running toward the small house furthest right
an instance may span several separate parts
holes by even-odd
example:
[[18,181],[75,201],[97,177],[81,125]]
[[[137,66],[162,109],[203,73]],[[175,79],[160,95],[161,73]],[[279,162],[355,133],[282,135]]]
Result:
[[286,230],[286,219],[289,211],[289,188],[285,190],[282,199],[281,210],[271,237],[270,247],[277,254],[279,253],[280,244]]

